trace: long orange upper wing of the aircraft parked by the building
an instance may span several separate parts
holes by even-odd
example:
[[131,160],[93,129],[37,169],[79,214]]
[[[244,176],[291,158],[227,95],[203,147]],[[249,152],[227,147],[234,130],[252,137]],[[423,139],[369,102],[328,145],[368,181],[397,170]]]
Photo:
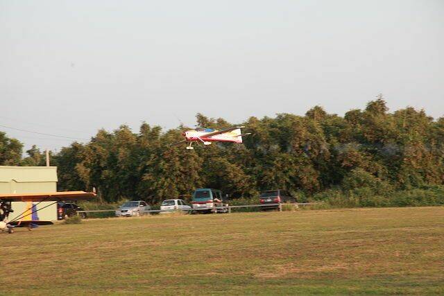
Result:
[[96,197],[96,193],[85,191],[65,191],[46,193],[0,193],[0,200],[8,202],[50,202],[66,200],[91,200]]

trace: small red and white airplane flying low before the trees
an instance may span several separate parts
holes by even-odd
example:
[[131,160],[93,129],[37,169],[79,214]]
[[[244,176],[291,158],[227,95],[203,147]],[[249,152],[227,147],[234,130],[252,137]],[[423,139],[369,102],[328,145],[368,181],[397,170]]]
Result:
[[212,142],[232,142],[242,143],[241,128],[244,126],[234,126],[232,128],[225,128],[224,130],[212,130],[211,128],[196,128],[195,130],[187,130],[182,133],[185,137],[182,141],[173,143],[172,145],[180,145],[181,143],[189,142],[187,149],[194,149],[193,142],[202,142],[204,145],[210,145]]

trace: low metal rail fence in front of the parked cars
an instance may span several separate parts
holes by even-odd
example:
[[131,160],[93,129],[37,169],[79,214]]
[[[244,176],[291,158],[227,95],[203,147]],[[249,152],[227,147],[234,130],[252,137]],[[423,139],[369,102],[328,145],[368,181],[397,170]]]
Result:
[[[315,205],[319,204],[319,202],[295,202],[295,203],[289,203],[289,205],[292,205],[293,207],[297,208],[299,206],[305,207],[309,205]],[[280,204],[242,204],[237,206],[230,206],[230,204],[225,204],[222,207],[201,207],[197,209],[183,209],[182,211],[188,212],[189,214],[192,214],[194,212],[198,211],[213,211],[215,213],[217,212],[225,212],[225,213],[231,213],[232,209],[241,209],[241,208],[261,208],[261,207],[268,207],[279,209],[279,211],[282,211],[282,203]],[[101,213],[101,212],[111,212],[111,211],[117,211],[118,209],[97,209],[97,210],[90,210],[90,211],[77,211],[77,215],[80,213]],[[149,211],[144,211],[143,213],[168,213],[168,212],[174,212],[177,210],[160,210],[160,209],[152,209]]]

